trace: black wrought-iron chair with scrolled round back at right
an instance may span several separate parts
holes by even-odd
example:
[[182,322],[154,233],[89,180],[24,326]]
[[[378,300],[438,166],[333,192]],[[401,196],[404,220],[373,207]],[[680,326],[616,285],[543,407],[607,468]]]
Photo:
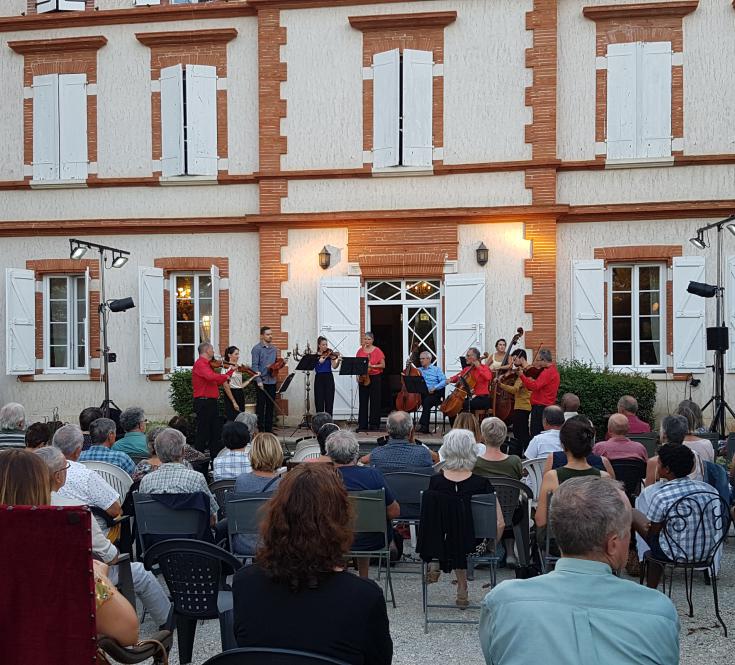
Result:
[[[714,492],[694,492],[677,500],[666,511],[664,526],[659,533],[659,542],[671,552],[671,560],[657,559],[651,551],[646,552],[641,566],[641,583],[646,577],[648,567],[653,563],[664,569],[663,591],[666,592],[666,569],[671,568],[669,578],[669,597],[674,581],[674,570],[684,569],[684,587],[689,616],[694,616],[692,587],[694,571],[706,570],[712,582],[712,596],[715,615],[727,637],[727,626],[720,616],[720,603],[717,596],[717,576],[715,575],[715,554],[722,547],[730,528],[729,507],[719,494]],[[686,535],[686,542],[683,539]],[[688,547],[691,543],[691,547]]]

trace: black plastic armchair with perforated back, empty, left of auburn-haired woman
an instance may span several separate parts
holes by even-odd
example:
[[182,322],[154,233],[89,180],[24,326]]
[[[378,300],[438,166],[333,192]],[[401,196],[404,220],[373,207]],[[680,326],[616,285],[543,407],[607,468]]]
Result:
[[219,619],[222,650],[234,649],[232,591],[225,582],[242,564],[221,547],[181,538],[156,543],[146,552],[145,567],[156,564],[171,594],[182,665],[191,662],[200,619]]

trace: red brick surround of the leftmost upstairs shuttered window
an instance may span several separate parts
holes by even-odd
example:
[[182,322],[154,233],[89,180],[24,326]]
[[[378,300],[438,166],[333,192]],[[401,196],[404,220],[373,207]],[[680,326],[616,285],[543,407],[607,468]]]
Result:
[[[86,76],[87,164],[86,179],[97,174],[97,51],[107,44],[101,35],[64,39],[33,39],[8,42],[8,46],[24,56],[23,68],[23,171],[30,182],[34,173],[33,95],[34,77],[48,74],[82,74]],[[59,130],[63,133],[64,129]],[[83,167],[82,167],[83,168]],[[65,181],[59,177],[59,181]],[[53,180],[49,180],[53,183]]]

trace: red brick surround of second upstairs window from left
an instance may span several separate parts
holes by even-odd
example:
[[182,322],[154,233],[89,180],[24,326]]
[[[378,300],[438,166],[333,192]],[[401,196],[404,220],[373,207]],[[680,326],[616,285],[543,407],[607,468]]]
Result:
[[[186,30],[183,32],[145,32],[135,35],[151,50],[151,116],[152,116],[152,171],[162,175],[163,158],[161,118],[161,70],[181,65],[214,67],[216,83],[217,118],[217,172],[227,172],[227,43],[237,37],[235,28]],[[212,179],[216,175],[208,176]]]

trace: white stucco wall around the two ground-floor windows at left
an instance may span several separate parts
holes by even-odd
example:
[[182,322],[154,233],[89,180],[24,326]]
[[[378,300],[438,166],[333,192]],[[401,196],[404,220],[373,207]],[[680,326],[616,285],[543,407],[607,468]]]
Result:
[[[230,259],[230,343],[249,350],[258,339],[259,277],[258,234],[100,236],[100,244],[131,252],[130,261],[119,270],[108,270],[107,298],[132,296],[138,301],[138,266],[152,266],[153,260],[166,256],[224,256]],[[28,258],[67,258],[66,238],[3,238],[0,251],[0,279],[5,268],[25,267]],[[5,308],[0,311],[0,348],[5,349]],[[110,369],[112,399],[121,407],[142,405],[149,418],[170,417],[169,383],[148,381],[139,374],[139,310],[110,314],[109,344],[117,353]],[[32,420],[50,419],[58,408],[62,419],[76,422],[85,406],[96,405],[104,397],[104,384],[90,381],[34,381],[22,383],[0,370],[0,403],[23,404]]]

